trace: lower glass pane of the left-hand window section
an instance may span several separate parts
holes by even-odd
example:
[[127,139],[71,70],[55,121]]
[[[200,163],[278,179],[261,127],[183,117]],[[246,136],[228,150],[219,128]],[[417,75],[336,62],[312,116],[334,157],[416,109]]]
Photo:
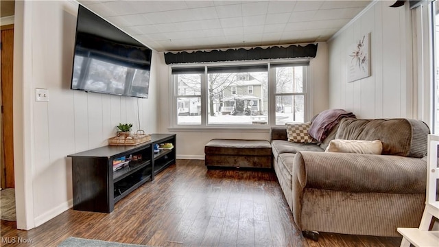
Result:
[[201,124],[201,98],[177,98],[177,124]]

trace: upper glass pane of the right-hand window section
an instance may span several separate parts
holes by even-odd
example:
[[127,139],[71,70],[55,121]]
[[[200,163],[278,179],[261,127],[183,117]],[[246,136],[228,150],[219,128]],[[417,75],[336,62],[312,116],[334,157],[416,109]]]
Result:
[[303,93],[303,67],[276,67],[276,93]]

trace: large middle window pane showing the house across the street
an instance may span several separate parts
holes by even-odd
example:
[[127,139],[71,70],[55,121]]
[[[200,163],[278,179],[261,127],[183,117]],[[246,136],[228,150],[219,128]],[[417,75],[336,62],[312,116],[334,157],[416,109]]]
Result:
[[208,124],[267,124],[268,72],[207,76]]

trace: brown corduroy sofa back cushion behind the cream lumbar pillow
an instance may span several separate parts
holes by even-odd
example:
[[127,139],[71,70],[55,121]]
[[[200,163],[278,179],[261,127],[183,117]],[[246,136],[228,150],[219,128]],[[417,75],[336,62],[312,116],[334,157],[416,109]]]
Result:
[[380,140],[382,154],[422,158],[427,155],[429,128],[415,119],[342,119],[335,139]]

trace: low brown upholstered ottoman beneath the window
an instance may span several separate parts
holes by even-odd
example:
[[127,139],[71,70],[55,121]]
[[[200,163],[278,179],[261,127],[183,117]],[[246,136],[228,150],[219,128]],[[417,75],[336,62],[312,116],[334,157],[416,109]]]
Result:
[[208,169],[218,167],[272,167],[272,146],[266,140],[213,139],[204,146]]

